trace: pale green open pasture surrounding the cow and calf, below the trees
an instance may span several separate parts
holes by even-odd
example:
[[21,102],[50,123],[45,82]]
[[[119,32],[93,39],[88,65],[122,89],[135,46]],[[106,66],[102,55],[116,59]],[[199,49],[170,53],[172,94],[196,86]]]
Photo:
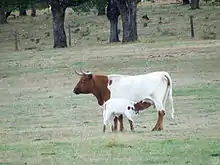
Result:
[[[219,36],[215,40],[152,36],[152,43],[140,39],[133,44],[55,50],[45,39],[41,51],[21,47],[13,52],[8,49],[13,42],[1,43],[0,165],[219,165],[215,155],[220,154]],[[80,67],[96,74],[168,71],[175,120],[168,109],[164,130],[152,132],[157,113],[150,108],[136,119],[135,132],[125,119],[124,132],[108,129],[103,134],[95,97],[72,93],[79,79],[74,69]]]

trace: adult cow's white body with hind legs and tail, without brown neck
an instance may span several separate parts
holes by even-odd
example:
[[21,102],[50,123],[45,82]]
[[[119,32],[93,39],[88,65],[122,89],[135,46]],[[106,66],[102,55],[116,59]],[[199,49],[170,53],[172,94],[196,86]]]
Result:
[[142,75],[109,75],[110,98],[124,98],[138,102],[151,99],[158,111],[158,121],[153,130],[163,129],[163,116],[167,97],[170,101],[171,117],[174,118],[172,98],[172,79],[165,71],[151,72]]

